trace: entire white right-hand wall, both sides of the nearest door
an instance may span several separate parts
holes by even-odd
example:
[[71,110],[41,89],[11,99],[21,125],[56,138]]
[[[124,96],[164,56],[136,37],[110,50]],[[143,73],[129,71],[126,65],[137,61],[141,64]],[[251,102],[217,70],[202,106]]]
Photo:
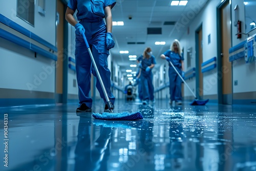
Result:
[[[191,60],[191,67],[196,67],[196,45],[195,45],[195,32],[202,25],[202,34],[203,34],[203,62],[217,56],[217,7],[221,1],[212,0],[208,2],[205,8],[199,13],[199,15],[193,20],[189,26],[189,34],[185,33],[181,37],[180,42],[184,47],[184,62],[185,62],[185,71],[190,68],[186,68],[186,51],[188,48],[193,48],[193,59]],[[246,35],[242,35],[241,39],[238,39],[236,36],[237,27],[234,27],[234,6],[238,4],[239,6],[239,20],[242,21],[242,32],[245,30],[245,14],[244,14],[244,4],[243,1],[234,0],[231,4],[231,29],[232,29],[232,46],[238,45],[240,42],[247,38]],[[255,34],[256,31],[253,31],[250,35]],[[208,35],[211,35],[211,43],[208,45]],[[233,93],[243,93],[243,92],[253,92],[256,91],[256,68],[255,62],[246,63],[244,59],[235,60],[232,62],[232,77],[233,80],[238,80],[238,86],[233,86]],[[187,81],[189,87],[193,90],[196,89],[196,79],[193,82]],[[218,93],[218,78],[217,70],[211,70],[207,73],[204,73],[204,95],[215,95]],[[249,83],[248,83],[249,82]],[[189,96],[190,93],[188,89],[185,88],[185,96]]]

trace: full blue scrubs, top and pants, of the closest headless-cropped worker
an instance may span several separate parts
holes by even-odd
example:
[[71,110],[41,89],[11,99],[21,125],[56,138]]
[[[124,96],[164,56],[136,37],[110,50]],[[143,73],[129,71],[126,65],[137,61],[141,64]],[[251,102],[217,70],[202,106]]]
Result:
[[[111,92],[111,72],[108,69],[107,58],[109,50],[106,49],[106,25],[103,21],[105,17],[104,8],[106,6],[115,6],[114,0],[69,0],[68,7],[73,11],[77,10],[77,19],[84,27],[88,44],[92,51],[94,60],[99,70],[100,76],[104,83],[106,92],[112,104],[115,103],[115,97]],[[76,35],[76,77],[78,84],[79,103],[85,103],[89,108],[92,108],[92,98],[89,97],[91,90],[91,72],[96,77],[96,88],[99,91],[100,97],[106,104],[104,93],[100,86],[96,71],[92,65],[91,57],[87,50],[86,44],[82,36]]]

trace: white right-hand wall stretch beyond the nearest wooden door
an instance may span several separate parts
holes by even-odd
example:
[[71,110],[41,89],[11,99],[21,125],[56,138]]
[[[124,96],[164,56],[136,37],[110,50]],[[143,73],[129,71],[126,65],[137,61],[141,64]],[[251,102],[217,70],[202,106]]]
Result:
[[[220,3],[219,0],[209,1],[206,6],[202,9],[202,11],[193,18],[189,27],[189,34],[184,33],[183,37],[181,37],[180,42],[181,46],[184,47],[184,67],[185,71],[190,70],[191,68],[196,67],[196,31],[202,26],[202,47],[203,47],[203,62],[206,60],[217,56],[217,6]],[[200,4],[198,7],[201,7]],[[191,11],[193,8],[191,8]],[[191,12],[190,11],[190,12]],[[208,44],[208,35],[211,36],[211,42]],[[193,50],[193,57],[191,59],[191,67],[187,68],[187,50],[189,48]],[[209,74],[210,73],[210,74]],[[204,74],[203,82],[204,82],[204,95],[214,95],[218,93],[217,87],[217,71],[212,70],[206,74]],[[196,94],[196,79],[193,78],[191,80],[186,81],[188,86],[193,90]],[[184,96],[191,96],[190,91],[184,87]]]

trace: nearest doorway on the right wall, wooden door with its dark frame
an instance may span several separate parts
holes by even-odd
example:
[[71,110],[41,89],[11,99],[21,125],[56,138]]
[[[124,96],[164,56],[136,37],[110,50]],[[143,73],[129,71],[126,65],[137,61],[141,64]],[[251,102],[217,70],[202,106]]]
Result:
[[221,104],[232,104],[232,66],[229,62],[231,48],[231,5],[223,1],[217,10],[218,15],[218,100]]

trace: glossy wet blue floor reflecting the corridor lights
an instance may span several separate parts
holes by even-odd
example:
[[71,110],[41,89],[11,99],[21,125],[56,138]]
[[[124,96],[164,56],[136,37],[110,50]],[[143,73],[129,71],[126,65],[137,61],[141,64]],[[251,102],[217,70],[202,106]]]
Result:
[[[140,111],[139,121],[97,120],[76,108],[1,108],[0,170],[256,170],[255,105],[116,101],[114,112]],[[94,102],[93,112],[103,108]]]

